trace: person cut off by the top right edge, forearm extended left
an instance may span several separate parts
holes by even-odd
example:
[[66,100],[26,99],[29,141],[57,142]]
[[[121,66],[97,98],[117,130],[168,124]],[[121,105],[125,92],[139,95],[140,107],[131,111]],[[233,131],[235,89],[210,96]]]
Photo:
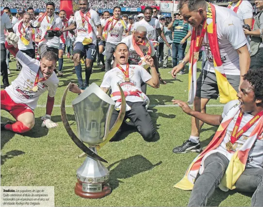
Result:
[[243,29],[246,35],[251,35],[250,42],[250,67],[262,67],[263,65],[263,0],[255,0],[255,5],[261,11],[255,19],[253,31]]

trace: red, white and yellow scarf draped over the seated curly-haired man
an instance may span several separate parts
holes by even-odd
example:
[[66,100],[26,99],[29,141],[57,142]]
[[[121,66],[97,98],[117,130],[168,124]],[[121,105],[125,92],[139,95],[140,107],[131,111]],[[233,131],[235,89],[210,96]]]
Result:
[[[212,150],[216,149],[224,140],[227,128],[236,115],[236,113],[240,111],[240,104],[235,105],[230,109],[227,115],[222,120],[220,126],[218,127],[213,140],[208,144],[205,150],[197,156],[196,159],[191,163],[188,170],[186,171],[184,177],[179,181],[177,184],[174,185],[175,188],[179,188],[182,190],[192,190],[194,187],[194,182],[197,177],[197,173],[201,168],[200,164],[204,156],[211,152]],[[235,189],[235,183],[239,176],[244,172],[247,163],[247,157],[249,150],[255,143],[255,141],[260,137],[263,133],[263,117],[258,120],[257,126],[251,132],[247,141],[242,145],[242,147],[237,150],[234,155],[232,156],[228,168],[226,170],[225,175],[223,176],[219,188],[222,191],[228,191]],[[203,167],[203,166],[202,166]]]

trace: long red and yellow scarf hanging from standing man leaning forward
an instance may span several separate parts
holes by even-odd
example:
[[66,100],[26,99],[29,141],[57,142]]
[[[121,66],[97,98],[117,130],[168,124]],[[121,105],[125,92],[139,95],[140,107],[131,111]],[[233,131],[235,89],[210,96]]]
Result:
[[228,82],[222,66],[216,31],[215,7],[211,3],[207,3],[206,21],[204,22],[203,30],[200,36],[197,36],[196,28],[193,28],[192,32],[189,61],[188,102],[192,104],[196,96],[197,60],[205,32],[208,33],[209,45],[214,59],[214,70],[219,90],[220,103],[228,103],[230,100],[237,99],[237,93]]

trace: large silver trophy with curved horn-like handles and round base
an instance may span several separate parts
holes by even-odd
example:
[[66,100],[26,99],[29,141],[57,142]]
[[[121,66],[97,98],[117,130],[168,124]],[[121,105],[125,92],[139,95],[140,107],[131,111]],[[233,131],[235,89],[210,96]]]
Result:
[[69,85],[62,98],[61,118],[70,138],[87,155],[77,170],[75,193],[83,198],[102,198],[111,193],[111,188],[108,184],[109,170],[102,164],[107,161],[97,155],[97,150],[109,142],[121,126],[126,109],[125,96],[119,86],[121,110],[111,129],[109,127],[115,102],[96,83],[92,83],[75,98],[72,105],[80,138],[78,139],[66,117],[65,101],[68,87]]

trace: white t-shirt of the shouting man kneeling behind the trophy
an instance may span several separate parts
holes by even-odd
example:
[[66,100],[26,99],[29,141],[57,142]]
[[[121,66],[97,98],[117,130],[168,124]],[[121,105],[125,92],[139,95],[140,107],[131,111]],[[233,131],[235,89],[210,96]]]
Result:
[[[126,64],[120,65],[124,70],[126,70]],[[141,66],[139,65],[130,65],[129,67],[129,78],[130,83],[132,84],[121,84],[124,83],[124,74],[123,72],[118,68],[115,67],[112,70],[105,73],[104,78],[102,80],[102,83],[100,87],[104,88],[112,88],[112,93],[118,92],[119,88],[116,83],[121,85],[122,90],[125,92],[129,91],[135,91],[135,90],[141,90],[141,82],[147,82],[151,79],[151,75]],[[120,96],[113,96],[112,99],[114,101],[118,100]],[[127,96],[126,101],[131,102],[143,102],[143,99],[139,96]]]

